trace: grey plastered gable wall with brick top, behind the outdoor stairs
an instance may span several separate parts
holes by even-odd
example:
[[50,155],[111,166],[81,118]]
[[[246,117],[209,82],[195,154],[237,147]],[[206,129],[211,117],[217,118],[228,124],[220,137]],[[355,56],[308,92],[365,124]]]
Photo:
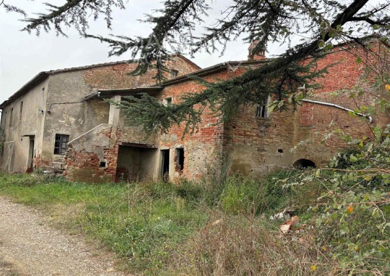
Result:
[[[186,74],[198,69],[194,64],[180,56],[173,56],[167,66]],[[137,63],[119,63],[98,66],[89,69],[76,69],[55,73],[50,76],[47,97],[47,114],[44,128],[44,148],[38,156],[39,164],[48,166],[54,161],[61,161],[63,155],[54,155],[56,134],[69,135],[70,140],[82,135],[101,123],[107,123],[109,104],[102,100],[83,101],[84,97],[98,89],[120,89],[137,86],[151,86],[155,70],[149,70],[142,76],[132,76]],[[167,78],[169,78],[169,73]],[[76,103],[75,103],[76,102]],[[80,103],[77,103],[80,102]],[[63,103],[63,104],[58,104]],[[124,128],[123,138],[135,140],[138,129]],[[133,137],[131,137],[133,136]],[[140,135],[138,135],[140,137]],[[145,136],[143,136],[145,137]],[[149,141],[155,138],[149,138]],[[137,140],[140,140],[137,138]]]

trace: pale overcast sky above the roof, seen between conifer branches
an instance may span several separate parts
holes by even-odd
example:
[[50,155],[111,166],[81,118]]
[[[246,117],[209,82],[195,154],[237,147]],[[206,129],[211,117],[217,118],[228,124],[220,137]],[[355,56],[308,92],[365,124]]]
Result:
[[[47,1],[47,0],[46,0]],[[8,0],[18,5],[28,15],[44,10],[43,0]],[[50,3],[61,5],[65,0],[50,0]],[[103,18],[92,21],[90,34],[115,35],[148,35],[152,26],[138,22],[145,13],[161,7],[161,0],[129,0],[125,10],[115,10],[113,13],[112,30],[107,30]],[[213,0],[213,10],[207,24],[214,22],[213,18],[220,14],[229,0]],[[6,100],[21,86],[28,82],[40,71],[83,66],[95,63],[129,59],[128,54],[108,57],[107,44],[95,39],[80,38],[74,29],[67,30],[68,37],[56,36],[55,32],[42,32],[39,36],[29,35],[19,30],[25,26],[19,21],[22,17],[16,13],[5,13],[0,9],[0,102]],[[222,57],[219,53],[210,55],[206,52],[197,53],[192,59],[200,67],[208,67],[228,60],[246,59],[248,45],[241,40],[229,43],[229,47]],[[282,49],[273,47],[272,53],[282,52]],[[189,57],[189,56],[187,56]]]

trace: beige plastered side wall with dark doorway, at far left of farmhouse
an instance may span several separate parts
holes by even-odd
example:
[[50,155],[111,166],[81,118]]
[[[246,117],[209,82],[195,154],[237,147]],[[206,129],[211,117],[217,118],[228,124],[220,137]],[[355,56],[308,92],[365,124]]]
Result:
[[[30,137],[34,137],[34,156],[42,150],[42,133],[47,97],[48,79],[43,80],[24,95],[2,109],[1,128],[5,131],[4,152],[1,155],[1,170],[7,172],[26,172],[29,160]],[[23,102],[20,118],[20,103]],[[11,108],[13,108],[10,126]]]

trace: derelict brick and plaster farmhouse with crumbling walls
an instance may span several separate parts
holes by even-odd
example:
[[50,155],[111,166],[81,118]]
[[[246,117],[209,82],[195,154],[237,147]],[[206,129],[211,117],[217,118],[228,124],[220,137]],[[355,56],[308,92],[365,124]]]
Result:
[[[388,47],[375,39],[371,43],[377,52]],[[345,147],[337,136],[321,143],[331,131],[331,122],[352,135],[368,137],[372,136],[371,127],[390,122],[384,114],[362,121],[340,108],[353,110],[356,104],[373,101],[368,95],[351,99],[348,94],[332,93],[356,85],[362,73],[362,65],[355,62],[350,50],[339,45],[317,62],[319,69],[335,65],[319,80],[322,87],[297,110],[270,113],[268,103],[247,105],[233,121],[218,124],[205,110],[199,130],[183,139],[181,125],[168,133],[146,136],[141,127],[130,126],[121,111],[103,99],[119,101],[122,96],[146,92],[163,104],[175,104],[185,93],[204,89],[189,77],[192,74],[207,80],[227,79],[271,59],[260,52],[252,60],[200,69],[177,54],[168,63],[168,80],[159,86],[152,78],[153,70],[142,76],[130,75],[136,66],[131,62],[40,72],[0,105],[5,131],[1,170],[56,168],[71,180],[109,182],[163,174],[171,179],[194,179],[207,173],[221,155],[229,156],[230,171],[247,175],[275,166],[326,166],[329,158]],[[370,58],[365,51],[360,55],[363,60]],[[303,140],[310,142],[290,151]]]

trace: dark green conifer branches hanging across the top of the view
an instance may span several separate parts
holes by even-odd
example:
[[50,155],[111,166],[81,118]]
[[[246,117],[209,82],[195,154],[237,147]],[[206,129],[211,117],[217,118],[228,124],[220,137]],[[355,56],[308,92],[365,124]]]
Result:
[[[109,55],[128,53],[138,59],[134,75],[156,69],[156,83],[165,81],[164,72],[169,71],[166,62],[172,52],[194,55],[199,51],[221,54],[228,42],[244,37],[245,42],[256,41],[251,56],[270,43],[287,44],[286,52],[240,76],[215,82],[202,81],[206,89],[199,94],[189,94],[173,106],[163,106],[156,99],[142,94],[140,98],[118,106],[134,123],[143,124],[146,131],[167,131],[173,124],[186,124],[186,131],[196,129],[204,106],[209,105],[215,116],[229,121],[242,104],[260,104],[269,94],[277,100],[273,110],[283,110],[287,104],[296,104],[311,88],[311,80],[324,76],[316,71],[315,61],[329,52],[332,46],[343,41],[352,41],[367,51],[362,37],[377,34],[389,36],[389,0],[371,3],[369,0],[231,0],[221,12],[214,25],[199,28],[212,0],[165,0],[163,8],[144,18],[153,25],[151,34],[144,36],[88,34],[87,15],[94,19],[104,16],[111,27],[114,7],[125,8],[122,0],[67,0],[62,6],[47,3],[47,13],[25,19],[24,31],[51,28],[65,35],[62,27],[73,26],[85,37],[95,38],[109,44]],[[129,2],[131,6],[137,1]],[[200,27],[199,27],[200,26]],[[211,26],[211,27],[210,27]],[[292,46],[292,38],[302,37]],[[382,38],[385,41],[387,38]],[[312,63],[303,61],[312,58]],[[129,100],[129,99],[125,99]]]

